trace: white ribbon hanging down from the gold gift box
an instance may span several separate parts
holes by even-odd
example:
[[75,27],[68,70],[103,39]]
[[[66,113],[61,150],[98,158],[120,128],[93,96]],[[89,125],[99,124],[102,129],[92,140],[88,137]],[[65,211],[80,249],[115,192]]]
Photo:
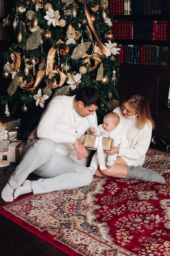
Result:
[[97,149],[100,170],[106,169],[103,146],[102,146],[102,138],[103,138],[102,135],[96,136],[95,146],[94,146],[94,148]]

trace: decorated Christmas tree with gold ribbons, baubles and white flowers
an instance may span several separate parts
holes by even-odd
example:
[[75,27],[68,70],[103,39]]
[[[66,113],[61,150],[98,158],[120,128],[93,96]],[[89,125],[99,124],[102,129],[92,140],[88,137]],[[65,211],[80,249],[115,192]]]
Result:
[[102,97],[98,121],[119,106],[116,84],[119,48],[111,32],[108,0],[15,0],[3,26],[13,26],[13,43],[3,53],[2,76],[11,82],[11,114],[25,113],[27,130],[36,125],[57,95],[95,87]]

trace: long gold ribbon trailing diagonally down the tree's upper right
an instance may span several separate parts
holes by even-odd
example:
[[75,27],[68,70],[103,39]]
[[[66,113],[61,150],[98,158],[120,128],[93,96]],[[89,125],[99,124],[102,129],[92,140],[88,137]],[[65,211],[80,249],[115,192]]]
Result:
[[[89,2],[89,1],[87,1],[87,2]],[[98,36],[97,36],[95,27],[94,27],[94,25],[93,25],[93,21],[92,21],[92,19],[91,19],[91,15],[90,15],[90,13],[89,13],[87,7],[86,7],[87,2],[84,4],[84,10],[85,10],[85,13],[86,13],[86,18],[87,18],[88,24],[89,24],[89,26],[91,27],[91,30],[93,31],[93,34],[94,34],[94,36],[95,36],[95,40],[96,40],[96,42],[97,42],[97,44],[98,44],[98,46],[99,46],[99,48],[100,48],[102,54],[104,55],[103,57],[106,58],[106,57],[108,56],[108,54],[109,54],[109,49],[108,49],[105,45],[103,45],[103,44],[100,42],[100,40],[99,40],[99,38],[98,38]]]

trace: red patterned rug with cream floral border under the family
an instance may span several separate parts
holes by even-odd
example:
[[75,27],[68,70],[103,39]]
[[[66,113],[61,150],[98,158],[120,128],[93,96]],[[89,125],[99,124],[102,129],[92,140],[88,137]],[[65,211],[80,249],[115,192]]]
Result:
[[71,256],[170,256],[170,154],[145,167],[166,184],[94,177],[90,186],[29,195],[0,213]]

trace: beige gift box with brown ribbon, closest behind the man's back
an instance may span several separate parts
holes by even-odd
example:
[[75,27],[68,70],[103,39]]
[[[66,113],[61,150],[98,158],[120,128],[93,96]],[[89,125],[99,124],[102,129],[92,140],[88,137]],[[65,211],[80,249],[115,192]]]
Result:
[[8,146],[7,161],[18,163],[22,159],[26,141],[14,141]]

